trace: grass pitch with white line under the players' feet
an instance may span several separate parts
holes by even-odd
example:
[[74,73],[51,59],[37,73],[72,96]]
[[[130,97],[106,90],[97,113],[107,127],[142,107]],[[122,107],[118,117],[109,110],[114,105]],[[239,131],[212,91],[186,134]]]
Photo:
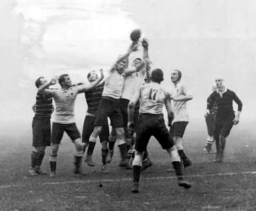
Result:
[[[191,189],[178,187],[168,154],[152,138],[148,146],[154,165],[142,173],[140,193],[131,193],[132,171],[118,167],[115,148],[109,174],[100,173],[100,144],[93,155],[96,167],[82,165],[82,176],[72,173],[74,147],[67,136],[58,153],[57,176],[29,177],[30,125],[0,135],[0,211],[254,211],[256,210],[256,164],[254,123],[241,121],[227,140],[223,163],[203,150],[204,121],[191,121],[184,148],[192,166],[184,170]],[[42,169],[49,171],[48,154]],[[102,184],[103,187],[99,187]]]

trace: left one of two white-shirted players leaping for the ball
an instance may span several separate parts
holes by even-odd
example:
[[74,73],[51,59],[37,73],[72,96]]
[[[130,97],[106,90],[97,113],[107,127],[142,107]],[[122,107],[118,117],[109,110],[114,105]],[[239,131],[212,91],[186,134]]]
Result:
[[127,147],[124,133],[124,120],[120,107],[120,99],[122,97],[122,90],[124,79],[135,72],[140,71],[140,68],[125,69],[125,61],[132,51],[137,50],[137,43],[133,42],[128,49],[128,52],[118,58],[114,66],[110,69],[110,74],[105,80],[102,98],[98,106],[96,120],[94,123],[94,130],[89,138],[89,141],[95,142],[98,135],[102,131],[102,127],[106,122],[107,117],[110,118],[111,124],[114,127],[117,135],[117,144],[120,149],[121,161],[119,166],[126,167],[127,161]]

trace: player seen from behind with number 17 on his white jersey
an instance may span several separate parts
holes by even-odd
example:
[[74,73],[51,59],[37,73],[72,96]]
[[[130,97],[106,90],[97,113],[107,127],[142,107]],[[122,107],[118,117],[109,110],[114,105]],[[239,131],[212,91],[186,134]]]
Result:
[[170,95],[163,90],[160,83],[164,80],[164,74],[161,69],[152,71],[151,81],[144,84],[136,92],[128,106],[128,128],[133,127],[134,107],[140,100],[140,118],[136,125],[135,157],[132,163],[133,167],[133,193],[139,192],[140,171],[142,167],[142,153],[146,150],[148,141],[153,135],[163,149],[166,149],[170,155],[172,165],[178,177],[178,184],[184,188],[190,188],[192,185],[183,180],[180,156],[177,147],[170,138],[166,125],[164,123],[163,106],[166,106],[168,119],[171,122],[173,110]]

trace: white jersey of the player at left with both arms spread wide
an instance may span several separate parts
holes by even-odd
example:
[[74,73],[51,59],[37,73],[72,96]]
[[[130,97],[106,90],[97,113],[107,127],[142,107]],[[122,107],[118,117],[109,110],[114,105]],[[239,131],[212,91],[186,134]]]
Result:
[[68,90],[44,90],[45,94],[52,96],[56,104],[53,122],[62,124],[75,122],[74,104],[76,96],[82,88],[83,86],[75,86],[70,87]]

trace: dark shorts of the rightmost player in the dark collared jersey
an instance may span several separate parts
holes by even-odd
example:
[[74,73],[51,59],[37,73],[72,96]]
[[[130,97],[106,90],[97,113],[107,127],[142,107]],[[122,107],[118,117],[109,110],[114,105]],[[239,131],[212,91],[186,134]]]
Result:
[[230,130],[234,125],[233,123],[234,118],[235,118],[234,113],[229,116],[216,115],[215,129],[214,129],[215,140],[218,140],[220,138],[220,135],[224,136],[225,138],[228,137]]

